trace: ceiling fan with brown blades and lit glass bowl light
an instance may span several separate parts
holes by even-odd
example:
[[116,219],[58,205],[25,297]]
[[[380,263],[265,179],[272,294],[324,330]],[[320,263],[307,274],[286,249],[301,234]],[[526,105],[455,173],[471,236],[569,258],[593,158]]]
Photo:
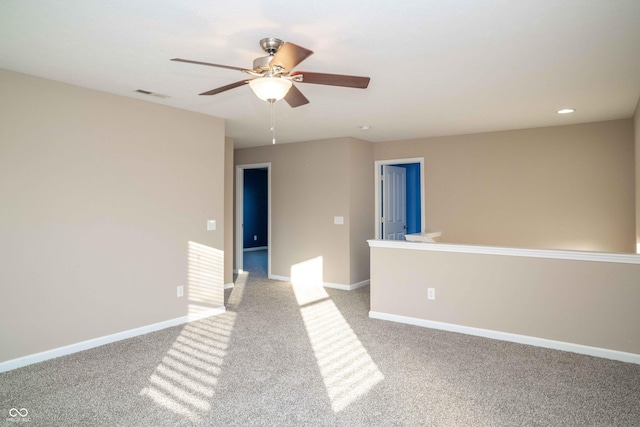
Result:
[[210,91],[203,92],[200,95],[216,95],[248,83],[258,98],[268,101],[271,104],[284,98],[284,100],[293,108],[309,103],[309,100],[293,85],[293,82],[352,87],[358,89],[366,89],[367,86],[369,86],[369,77],[292,71],[293,68],[313,54],[309,49],[305,49],[293,43],[285,43],[280,39],[269,37],[260,40],[260,47],[267,53],[267,56],[256,58],[253,61],[252,69],[233,67],[230,65],[211,64],[209,62],[191,61],[181,58],[173,58],[171,60],[238,70],[254,77],[240,80],[217,89],[212,89]]

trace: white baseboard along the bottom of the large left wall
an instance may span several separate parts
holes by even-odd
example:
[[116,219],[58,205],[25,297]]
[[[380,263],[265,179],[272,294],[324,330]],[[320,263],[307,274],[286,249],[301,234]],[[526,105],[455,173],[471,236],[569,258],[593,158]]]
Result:
[[45,360],[54,359],[56,357],[66,356],[68,354],[77,353],[79,351],[100,347],[101,345],[111,344],[116,341],[134,338],[140,335],[148,334],[150,332],[156,332],[162,329],[171,328],[173,326],[201,320],[206,317],[216,316],[224,313],[225,311],[226,308],[224,306],[211,308],[197,314],[189,314],[186,316],[177,317],[175,319],[169,319],[163,322],[154,323],[152,325],[129,329],[128,331],[117,332],[115,334],[105,335],[103,337],[93,338],[87,341],[66,345],[64,347],[58,347],[40,353],[30,354],[28,356],[19,357],[17,359],[7,360],[6,362],[0,363],[0,372],[11,371],[13,369],[22,368],[23,366],[32,365],[38,362],[44,362]]

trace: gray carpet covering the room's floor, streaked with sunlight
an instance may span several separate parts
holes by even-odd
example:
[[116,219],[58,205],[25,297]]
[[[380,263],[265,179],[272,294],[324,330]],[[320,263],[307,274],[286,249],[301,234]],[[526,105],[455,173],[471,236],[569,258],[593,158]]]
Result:
[[263,260],[223,315],[0,374],[0,425],[640,426],[639,365],[299,303]]

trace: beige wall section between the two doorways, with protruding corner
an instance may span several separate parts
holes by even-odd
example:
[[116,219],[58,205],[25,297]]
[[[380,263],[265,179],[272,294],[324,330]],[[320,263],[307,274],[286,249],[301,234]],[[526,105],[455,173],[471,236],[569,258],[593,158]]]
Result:
[[[292,266],[322,257],[324,282],[351,285],[368,279],[371,234],[363,231],[361,215],[371,215],[363,209],[373,207],[371,153],[370,143],[352,138],[235,151],[236,165],[271,163],[272,275],[290,277]],[[360,164],[354,156],[365,161]],[[335,225],[335,216],[344,217],[344,225]]]

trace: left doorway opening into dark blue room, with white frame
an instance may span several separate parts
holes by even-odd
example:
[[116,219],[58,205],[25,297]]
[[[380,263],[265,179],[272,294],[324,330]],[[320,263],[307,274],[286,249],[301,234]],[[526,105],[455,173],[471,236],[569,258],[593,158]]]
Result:
[[235,195],[235,272],[271,277],[271,163],[237,165]]

